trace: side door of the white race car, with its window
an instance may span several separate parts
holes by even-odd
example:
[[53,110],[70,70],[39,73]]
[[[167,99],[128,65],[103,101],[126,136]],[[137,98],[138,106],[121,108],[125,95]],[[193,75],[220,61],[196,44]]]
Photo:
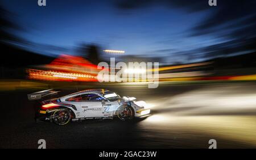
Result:
[[82,94],[81,109],[85,118],[94,118],[104,116],[104,107],[102,106],[102,97],[97,94]]

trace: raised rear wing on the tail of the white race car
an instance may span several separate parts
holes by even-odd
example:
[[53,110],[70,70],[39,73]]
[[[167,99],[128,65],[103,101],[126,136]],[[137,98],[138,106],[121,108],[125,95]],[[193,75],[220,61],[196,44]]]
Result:
[[41,100],[42,98],[46,98],[48,96],[56,95],[59,92],[60,92],[59,90],[56,91],[56,90],[53,90],[53,89],[42,90],[42,91],[39,91],[39,92],[27,94],[27,98],[30,101]]

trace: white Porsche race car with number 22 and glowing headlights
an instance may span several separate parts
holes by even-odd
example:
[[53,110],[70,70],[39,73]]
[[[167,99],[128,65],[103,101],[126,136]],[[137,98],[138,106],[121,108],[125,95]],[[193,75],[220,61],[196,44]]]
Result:
[[106,89],[90,89],[60,98],[43,100],[57,94],[53,89],[28,94],[28,100],[39,100],[36,105],[36,120],[50,120],[58,125],[84,119],[121,120],[142,118],[150,115],[144,101],[134,97],[121,97]]

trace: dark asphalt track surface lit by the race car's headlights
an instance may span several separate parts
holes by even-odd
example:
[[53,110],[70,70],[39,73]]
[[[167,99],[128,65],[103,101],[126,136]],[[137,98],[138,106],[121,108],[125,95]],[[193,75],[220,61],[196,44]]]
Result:
[[217,148],[256,147],[256,84],[80,85],[77,89],[106,88],[146,101],[152,115],[132,122],[85,120],[67,126],[35,123],[29,90],[1,93],[0,148]]

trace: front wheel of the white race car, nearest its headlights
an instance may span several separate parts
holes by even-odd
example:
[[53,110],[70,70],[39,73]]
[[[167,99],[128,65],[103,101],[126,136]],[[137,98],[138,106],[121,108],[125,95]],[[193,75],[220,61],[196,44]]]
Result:
[[135,113],[134,113],[133,107],[127,106],[127,105],[118,107],[117,116],[120,120],[122,121],[132,120],[134,119],[134,115]]

